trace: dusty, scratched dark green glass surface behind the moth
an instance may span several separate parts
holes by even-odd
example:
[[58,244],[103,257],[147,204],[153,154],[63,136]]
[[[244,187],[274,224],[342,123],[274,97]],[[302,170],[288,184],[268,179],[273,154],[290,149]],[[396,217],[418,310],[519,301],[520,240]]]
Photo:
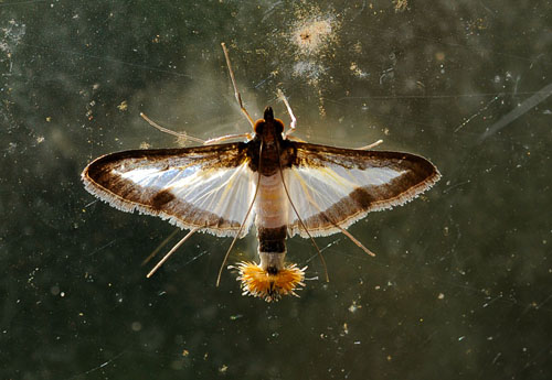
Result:
[[[550,1],[0,1],[0,378],[550,379]],[[300,297],[241,295],[231,239],[97,200],[120,150],[250,131],[407,151],[442,181],[308,240]],[[255,232],[229,263],[253,259]]]

